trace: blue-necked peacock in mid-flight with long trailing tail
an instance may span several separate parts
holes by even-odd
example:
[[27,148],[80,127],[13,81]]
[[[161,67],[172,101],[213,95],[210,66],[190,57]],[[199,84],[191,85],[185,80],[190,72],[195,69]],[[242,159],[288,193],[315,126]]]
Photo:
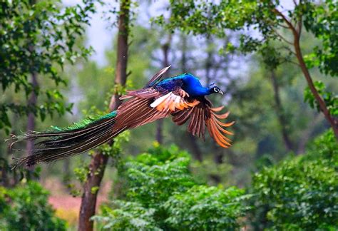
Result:
[[116,111],[74,123],[67,128],[51,127],[44,132],[28,131],[23,135],[12,135],[10,147],[24,140],[35,140],[33,154],[19,158],[19,165],[27,167],[37,163],[50,163],[96,148],[125,130],[172,116],[177,125],[188,122],[188,131],[195,136],[210,136],[222,148],[228,148],[231,140],[225,135],[233,135],[225,128],[233,123],[223,123],[220,119],[229,112],[217,114],[224,106],[214,108],[206,96],[222,91],[215,84],[205,88],[193,74],[183,73],[162,79],[170,66],[163,68],[140,90],[127,91],[121,96],[121,106]]

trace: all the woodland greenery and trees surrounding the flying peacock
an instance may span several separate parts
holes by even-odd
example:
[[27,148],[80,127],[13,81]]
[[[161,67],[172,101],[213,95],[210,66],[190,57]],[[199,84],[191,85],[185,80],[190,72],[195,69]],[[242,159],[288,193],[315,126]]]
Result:
[[236,123],[227,149],[168,118],[34,170],[0,142],[0,230],[338,230],[336,5],[1,1],[1,140],[113,111],[168,64]]

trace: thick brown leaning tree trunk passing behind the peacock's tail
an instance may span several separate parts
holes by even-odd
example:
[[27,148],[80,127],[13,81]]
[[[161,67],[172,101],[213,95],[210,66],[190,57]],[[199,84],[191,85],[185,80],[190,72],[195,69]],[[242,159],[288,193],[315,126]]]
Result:
[[[129,8],[130,0],[121,0],[120,12],[118,17],[118,51],[116,62],[116,86],[125,86],[127,79],[127,61],[128,61],[128,34],[129,34]],[[111,97],[109,111],[114,111],[121,104],[118,93]],[[113,141],[109,143],[113,145]],[[86,183],[83,187],[83,195],[80,208],[80,216],[78,221],[78,230],[93,230],[93,221],[91,217],[95,215],[96,200],[98,190],[104,175],[104,170],[108,163],[108,155],[103,155],[99,150],[96,150],[91,164],[89,165],[89,173]]]

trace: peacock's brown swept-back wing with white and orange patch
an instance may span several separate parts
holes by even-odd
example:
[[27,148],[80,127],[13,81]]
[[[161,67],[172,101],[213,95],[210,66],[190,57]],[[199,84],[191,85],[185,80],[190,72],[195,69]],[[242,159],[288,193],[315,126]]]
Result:
[[180,79],[168,79],[165,83],[128,91],[126,96],[121,96],[121,99],[130,98],[130,100],[123,102],[118,108],[116,128],[120,126],[127,126],[127,129],[136,128],[165,118],[176,111],[197,106],[200,101],[190,98],[188,93],[181,88],[182,85],[183,82]]

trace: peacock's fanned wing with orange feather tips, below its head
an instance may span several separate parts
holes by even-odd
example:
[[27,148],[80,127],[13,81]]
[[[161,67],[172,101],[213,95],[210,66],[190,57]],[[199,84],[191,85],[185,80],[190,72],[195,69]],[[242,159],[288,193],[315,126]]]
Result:
[[220,119],[225,119],[229,116],[229,112],[217,114],[223,108],[212,108],[212,103],[206,98],[200,101],[197,105],[185,111],[177,111],[173,113],[173,121],[177,125],[183,125],[188,120],[188,131],[198,137],[205,135],[205,128],[208,129],[210,136],[223,148],[231,146],[231,140],[225,135],[233,135],[225,128],[230,127],[235,122],[222,123]]

